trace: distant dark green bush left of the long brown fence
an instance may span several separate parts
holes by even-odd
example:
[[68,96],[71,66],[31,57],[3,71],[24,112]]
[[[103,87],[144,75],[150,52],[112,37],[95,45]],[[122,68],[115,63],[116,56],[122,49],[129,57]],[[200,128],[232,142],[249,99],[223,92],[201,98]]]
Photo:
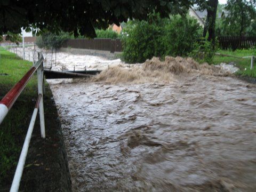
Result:
[[60,48],[61,45],[69,39],[70,35],[68,33],[60,33],[59,35],[52,33],[43,33],[41,36],[36,38],[36,45],[39,48]]

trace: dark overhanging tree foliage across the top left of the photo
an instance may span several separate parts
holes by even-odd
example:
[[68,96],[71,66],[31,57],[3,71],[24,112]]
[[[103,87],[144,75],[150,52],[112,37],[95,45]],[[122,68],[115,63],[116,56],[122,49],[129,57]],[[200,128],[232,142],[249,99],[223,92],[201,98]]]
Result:
[[95,37],[94,28],[119,25],[128,18],[146,19],[149,13],[161,17],[185,13],[194,0],[2,0],[0,1],[0,35],[20,33],[30,27],[52,33],[65,31],[75,36]]

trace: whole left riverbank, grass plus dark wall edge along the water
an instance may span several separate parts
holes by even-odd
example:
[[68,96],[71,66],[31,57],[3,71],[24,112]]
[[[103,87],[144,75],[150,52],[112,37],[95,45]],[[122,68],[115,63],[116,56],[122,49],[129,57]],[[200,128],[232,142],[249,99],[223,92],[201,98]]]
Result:
[[[0,99],[32,66],[0,48]],[[9,191],[37,98],[36,75],[30,79],[0,125],[0,191]],[[38,117],[30,141],[20,190],[70,191],[70,175],[63,146],[61,125],[52,92],[45,84],[46,139],[40,136]]]

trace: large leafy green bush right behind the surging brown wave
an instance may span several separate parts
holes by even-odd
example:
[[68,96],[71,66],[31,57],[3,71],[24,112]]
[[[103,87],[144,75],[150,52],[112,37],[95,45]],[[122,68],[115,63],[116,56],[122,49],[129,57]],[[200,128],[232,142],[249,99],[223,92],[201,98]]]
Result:
[[187,56],[197,46],[201,31],[195,19],[179,15],[170,19],[129,21],[121,36],[122,60],[135,63],[153,56]]

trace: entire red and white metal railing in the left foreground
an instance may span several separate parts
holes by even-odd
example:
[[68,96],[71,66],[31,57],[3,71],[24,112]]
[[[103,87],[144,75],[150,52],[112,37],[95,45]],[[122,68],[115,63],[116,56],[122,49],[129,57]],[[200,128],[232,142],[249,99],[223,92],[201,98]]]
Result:
[[33,112],[33,115],[30,120],[30,124],[28,127],[28,132],[25,138],[25,142],[23,144],[19,162],[17,165],[17,169],[15,171],[15,175],[13,178],[12,186],[10,191],[18,191],[20,180],[23,172],[23,168],[25,165],[29,142],[31,139],[31,135],[34,129],[34,124],[36,121],[37,111],[39,108],[39,117],[40,117],[40,126],[41,126],[41,137],[45,138],[45,124],[44,124],[44,105],[43,105],[43,55],[42,53],[38,53],[38,61],[34,63],[33,67],[31,67],[28,72],[20,79],[20,81],[15,84],[12,89],[4,96],[4,98],[0,101],[0,124],[3,119],[7,115],[8,111],[12,108],[14,102],[17,100],[29,79],[33,76],[35,71],[37,71],[37,86],[38,86],[38,98],[36,101],[36,106]]

